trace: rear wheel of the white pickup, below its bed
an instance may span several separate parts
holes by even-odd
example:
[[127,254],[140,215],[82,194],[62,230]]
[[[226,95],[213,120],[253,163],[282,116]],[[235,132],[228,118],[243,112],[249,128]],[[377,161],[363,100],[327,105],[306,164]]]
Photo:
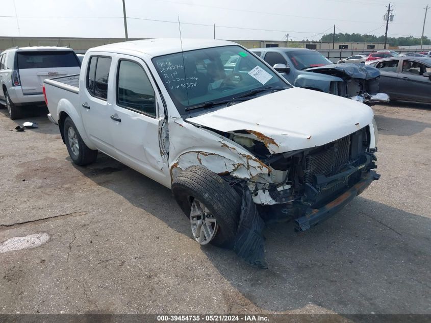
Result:
[[67,151],[73,163],[84,166],[96,161],[97,151],[91,150],[85,144],[70,117],[64,120],[63,136]]

